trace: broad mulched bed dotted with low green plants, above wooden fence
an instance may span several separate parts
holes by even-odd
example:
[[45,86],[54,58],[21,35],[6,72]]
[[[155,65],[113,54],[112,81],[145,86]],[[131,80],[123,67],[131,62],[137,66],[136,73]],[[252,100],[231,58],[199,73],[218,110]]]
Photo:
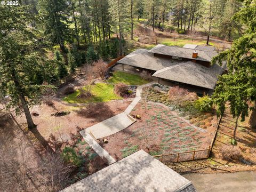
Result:
[[108,143],[102,144],[116,159],[139,149],[159,155],[209,148],[213,127],[207,130],[195,127],[164,105],[149,102],[145,106],[139,102],[131,115],[140,115],[141,119],[125,130],[106,137]]

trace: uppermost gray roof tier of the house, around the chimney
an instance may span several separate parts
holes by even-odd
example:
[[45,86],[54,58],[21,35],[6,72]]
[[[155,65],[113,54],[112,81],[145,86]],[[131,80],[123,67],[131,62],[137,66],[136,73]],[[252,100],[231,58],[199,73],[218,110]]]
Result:
[[169,55],[174,57],[186,58],[186,59],[194,59],[200,61],[211,62],[212,58],[218,53],[215,51],[202,51],[197,50],[198,55],[197,58],[193,58],[194,49],[177,47],[177,46],[166,46],[162,44],[158,44],[153,49],[149,51],[150,53],[157,53],[163,55]]

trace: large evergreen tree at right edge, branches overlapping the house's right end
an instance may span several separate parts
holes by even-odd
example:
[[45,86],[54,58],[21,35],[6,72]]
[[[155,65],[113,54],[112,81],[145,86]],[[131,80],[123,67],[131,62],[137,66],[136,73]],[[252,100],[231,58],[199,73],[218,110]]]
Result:
[[[234,41],[230,50],[220,53],[213,59],[213,63],[223,59],[227,60],[228,74],[220,77],[213,94],[214,103],[217,105],[218,114],[225,111],[225,104],[230,102],[231,114],[241,117],[249,115],[248,102],[254,102],[251,115],[251,126],[256,127],[256,2],[247,0],[243,9],[235,14],[233,19],[242,22],[246,27],[246,33]],[[236,129],[236,127],[235,127]],[[235,137],[235,132],[234,132]]]

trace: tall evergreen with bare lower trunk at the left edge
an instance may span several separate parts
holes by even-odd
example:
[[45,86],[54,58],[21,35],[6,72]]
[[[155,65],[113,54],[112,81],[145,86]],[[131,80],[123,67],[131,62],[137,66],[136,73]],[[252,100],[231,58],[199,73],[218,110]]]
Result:
[[38,102],[42,84],[50,78],[39,52],[43,52],[43,45],[34,30],[27,28],[36,20],[30,9],[31,6],[0,6],[0,89],[11,97],[7,107],[19,111],[21,102],[28,128],[33,129],[36,125],[28,106]]

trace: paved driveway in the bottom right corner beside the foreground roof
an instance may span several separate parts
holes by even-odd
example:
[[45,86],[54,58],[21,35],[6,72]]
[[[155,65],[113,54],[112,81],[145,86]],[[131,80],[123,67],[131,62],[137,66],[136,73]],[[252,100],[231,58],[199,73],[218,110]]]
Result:
[[198,192],[254,192],[256,191],[256,172],[235,173],[187,173],[183,177],[193,182]]

